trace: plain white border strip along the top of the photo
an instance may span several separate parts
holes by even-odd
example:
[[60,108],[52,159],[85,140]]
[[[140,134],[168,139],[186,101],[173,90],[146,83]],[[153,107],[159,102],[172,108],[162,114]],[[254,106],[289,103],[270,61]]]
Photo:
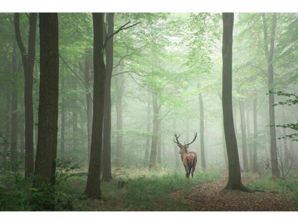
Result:
[[298,12],[298,1],[2,0],[0,12]]

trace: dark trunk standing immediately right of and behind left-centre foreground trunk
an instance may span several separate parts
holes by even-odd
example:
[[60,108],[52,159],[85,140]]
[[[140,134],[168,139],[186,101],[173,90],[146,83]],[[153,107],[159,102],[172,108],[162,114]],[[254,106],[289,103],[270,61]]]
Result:
[[[106,13],[108,21],[108,37],[114,33],[114,13]],[[106,79],[104,96],[104,122],[103,122],[103,175],[102,180],[110,181],[111,173],[111,79],[113,71],[113,37],[105,48],[106,52]]]

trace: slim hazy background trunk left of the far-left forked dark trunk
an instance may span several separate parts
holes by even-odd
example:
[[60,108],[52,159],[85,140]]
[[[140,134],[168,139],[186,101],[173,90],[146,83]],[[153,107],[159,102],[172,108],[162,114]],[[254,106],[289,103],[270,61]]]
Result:
[[13,42],[12,47],[12,72],[13,81],[11,82],[11,133],[10,133],[10,161],[17,159],[17,78],[16,78],[16,46]]

